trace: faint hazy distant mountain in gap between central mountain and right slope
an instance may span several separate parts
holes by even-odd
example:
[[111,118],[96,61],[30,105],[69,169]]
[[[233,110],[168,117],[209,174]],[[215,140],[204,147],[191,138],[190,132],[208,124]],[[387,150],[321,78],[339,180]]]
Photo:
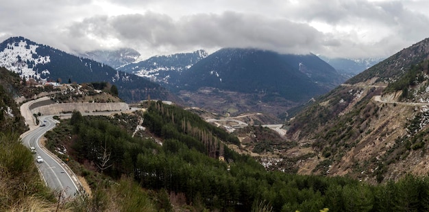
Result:
[[337,71],[350,75],[353,77],[354,75],[369,69],[374,64],[381,62],[384,58],[328,58],[326,56],[319,56],[325,62],[328,62],[334,69]]

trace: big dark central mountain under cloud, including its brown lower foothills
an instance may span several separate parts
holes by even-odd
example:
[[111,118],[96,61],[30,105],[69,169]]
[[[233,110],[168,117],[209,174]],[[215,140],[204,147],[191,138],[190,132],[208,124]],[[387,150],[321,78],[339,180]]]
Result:
[[345,80],[313,54],[227,48],[171,73],[168,87],[188,104],[217,113],[280,115]]

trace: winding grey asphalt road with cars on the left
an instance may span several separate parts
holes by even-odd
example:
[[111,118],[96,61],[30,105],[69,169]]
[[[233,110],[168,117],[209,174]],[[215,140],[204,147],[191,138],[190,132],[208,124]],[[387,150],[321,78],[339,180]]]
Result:
[[[59,161],[55,156],[48,154],[45,148],[41,148],[40,138],[45,132],[56,126],[56,121],[52,116],[41,117],[40,127],[27,133],[23,137],[23,143],[27,147],[34,147],[34,163],[38,166],[46,184],[53,190],[62,192],[64,198],[73,198],[77,195],[77,185],[75,184],[75,176],[71,176],[66,172],[66,167],[62,161]],[[45,125],[45,126],[42,126]],[[36,157],[41,156],[43,163],[37,163]]]

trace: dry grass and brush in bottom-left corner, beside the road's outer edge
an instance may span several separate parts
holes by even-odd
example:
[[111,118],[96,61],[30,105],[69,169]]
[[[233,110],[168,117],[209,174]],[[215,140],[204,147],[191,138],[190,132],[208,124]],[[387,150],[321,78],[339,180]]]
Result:
[[0,211],[51,211],[55,201],[18,135],[0,134]]

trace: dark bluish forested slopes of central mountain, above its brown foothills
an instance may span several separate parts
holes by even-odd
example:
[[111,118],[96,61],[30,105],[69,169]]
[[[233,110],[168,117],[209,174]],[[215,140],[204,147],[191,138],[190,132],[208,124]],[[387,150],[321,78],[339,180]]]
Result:
[[[326,93],[345,78],[315,55],[288,55],[259,49],[221,49],[173,76],[176,90],[201,87],[264,94],[264,100],[282,97],[307,101]],[[173,81],[173,80],[171,80]]]

